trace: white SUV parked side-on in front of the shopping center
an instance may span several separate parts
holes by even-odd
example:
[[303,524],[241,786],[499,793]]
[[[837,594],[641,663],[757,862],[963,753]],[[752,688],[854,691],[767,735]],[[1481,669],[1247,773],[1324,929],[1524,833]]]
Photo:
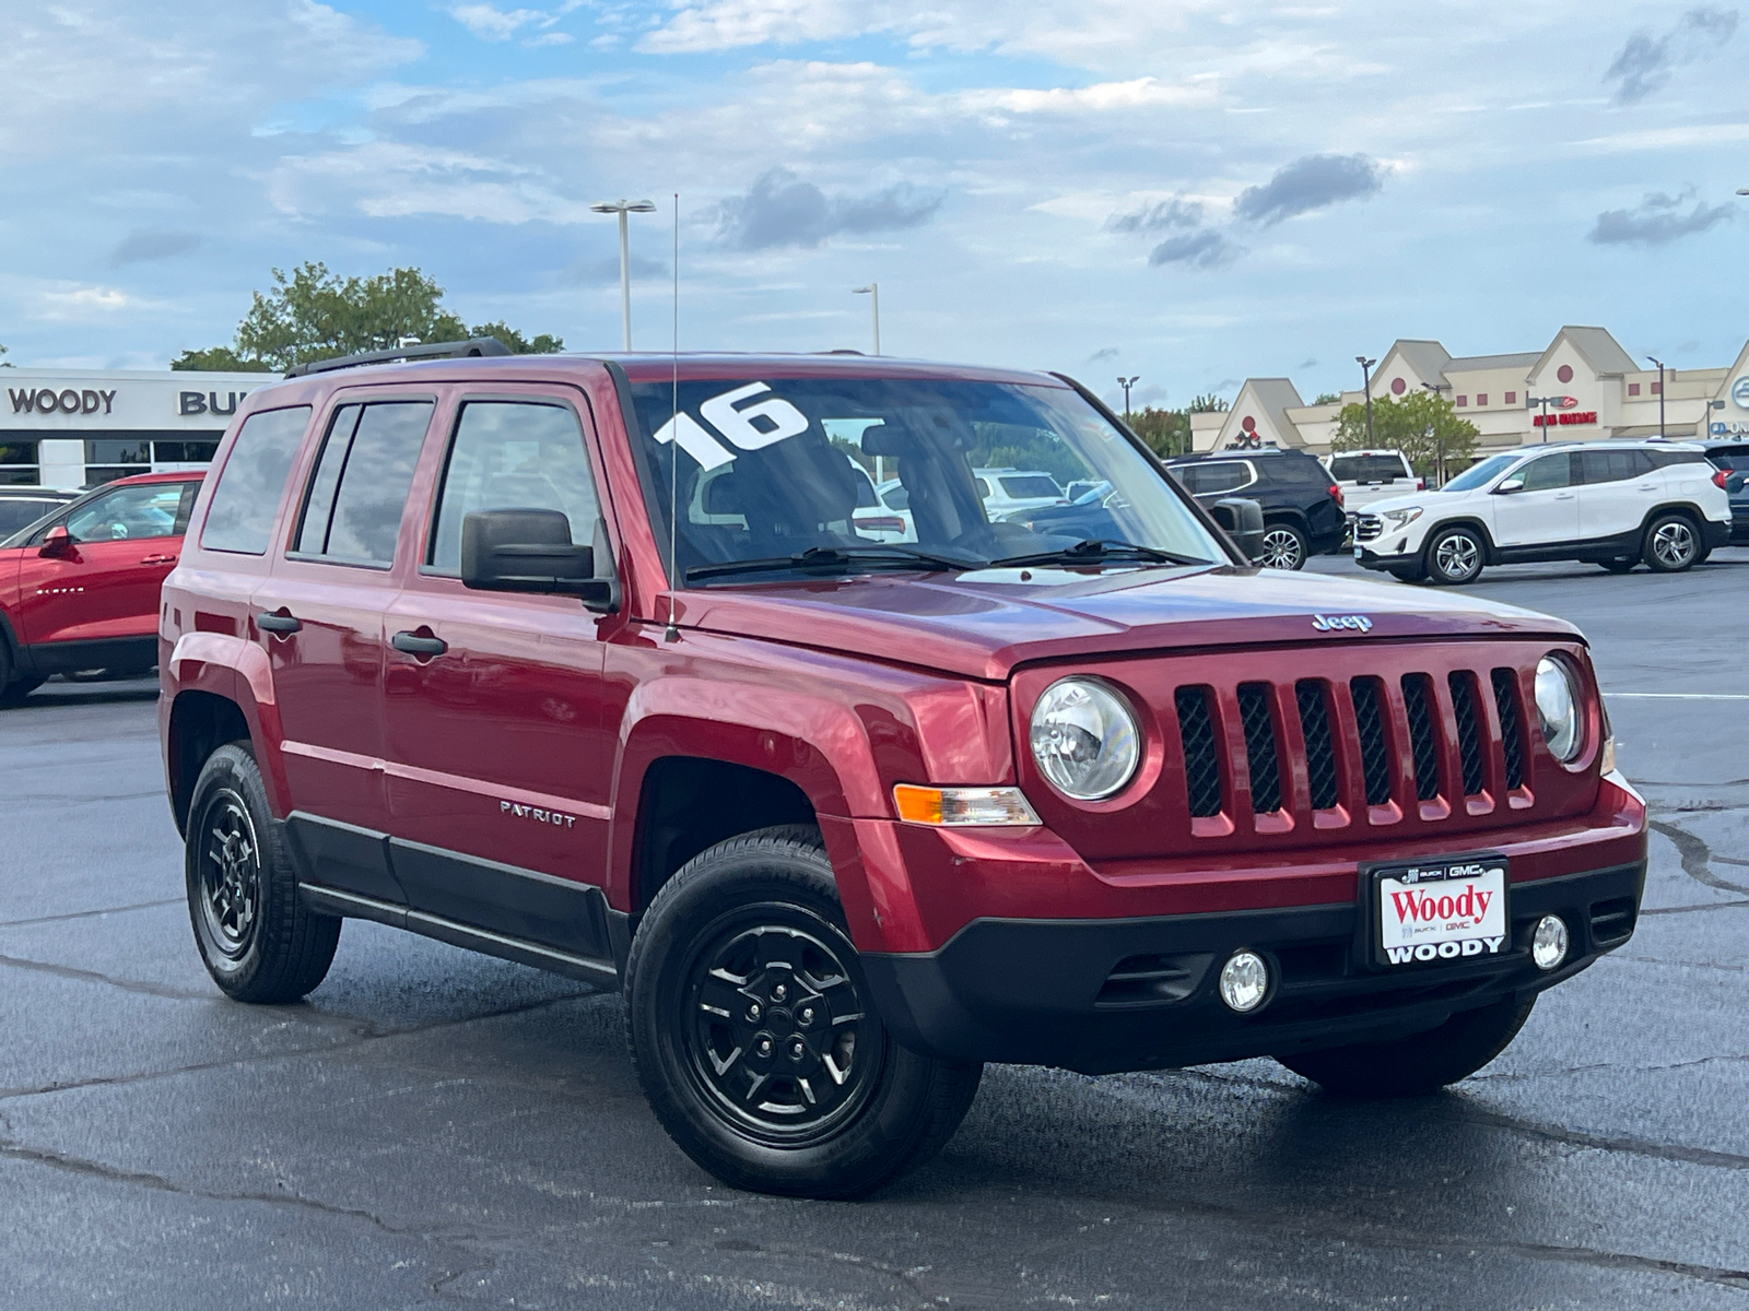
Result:
[[1676,573],[1730,535],[1725,474],[1698,446],[1534,446],[1488,456],[1439,491],[1373,502],[1355,516],[1354,559],[1403,582],[1441,584],[1536,559]]

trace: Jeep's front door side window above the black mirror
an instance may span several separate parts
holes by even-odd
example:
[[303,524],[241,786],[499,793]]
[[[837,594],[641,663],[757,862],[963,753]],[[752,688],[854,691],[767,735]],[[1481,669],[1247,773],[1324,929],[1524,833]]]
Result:
[[462,406],[444,465],[425,563],[462,572],[462,519],[479,510],[558,510],[574,545],[595,540],[602,516],[582,446],[582,427],[565,406],[470,400]]

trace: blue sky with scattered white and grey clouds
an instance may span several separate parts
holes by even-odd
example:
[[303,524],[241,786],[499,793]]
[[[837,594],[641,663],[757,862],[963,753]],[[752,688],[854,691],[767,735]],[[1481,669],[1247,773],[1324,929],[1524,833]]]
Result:
[[269,267],[416,264],[469,320],[868,348],[1184,404],[1394,337],[1749,336],[1749,30],[1721,3],[59,0],[0,45],[0,343],[161,367]]

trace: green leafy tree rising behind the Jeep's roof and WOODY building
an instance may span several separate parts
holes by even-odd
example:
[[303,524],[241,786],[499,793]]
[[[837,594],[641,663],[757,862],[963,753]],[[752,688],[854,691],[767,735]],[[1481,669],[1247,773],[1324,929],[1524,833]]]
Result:
[[236,362],[241,369],[290,369],[355,351],[388,350],[413,341],[498,337],[518,355],[544,355],[565,343],[542,332],[525,337],[509,323],[483,323],[472,332],[442,306],[442,287],[418,269],[390,269],[374,278],[341,278],[327,264],[299,264],[287,276],[273,269],[273,290],[254,292],[236,327],[234,346],[184,351],[177,367],[213,367],[191,360]]

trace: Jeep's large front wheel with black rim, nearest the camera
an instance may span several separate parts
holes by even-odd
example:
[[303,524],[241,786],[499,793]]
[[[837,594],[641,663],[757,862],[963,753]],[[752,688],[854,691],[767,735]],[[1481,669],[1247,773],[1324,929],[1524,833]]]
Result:
[[983,1075],[887,1033],[803,825],[731,837],[663,884],[631,942],[626,1021],[656,1119],[752,1192],[890,1183],[953,1136]]

